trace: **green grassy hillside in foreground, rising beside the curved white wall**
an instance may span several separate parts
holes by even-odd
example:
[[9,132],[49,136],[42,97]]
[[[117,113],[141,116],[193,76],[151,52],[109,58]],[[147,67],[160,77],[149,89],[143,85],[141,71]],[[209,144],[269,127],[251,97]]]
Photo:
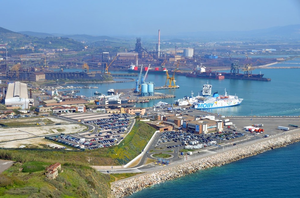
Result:
[[[154,133],[154,129],[137,121],[120,145],[85,152],[0,151],[0,159],[18,161],[0,174],[1,197],[108,197],[110,182],[132,174],[101,174],[89,165],[120,165],[137,156]],[[22,172],[20,168],[32,161],[42,161],[47,167],[59,162],[63,173],[48,180],[46,171]],[[36,163],[40,166],[40,163]],[[33,169],[34,170],[34,167]]]

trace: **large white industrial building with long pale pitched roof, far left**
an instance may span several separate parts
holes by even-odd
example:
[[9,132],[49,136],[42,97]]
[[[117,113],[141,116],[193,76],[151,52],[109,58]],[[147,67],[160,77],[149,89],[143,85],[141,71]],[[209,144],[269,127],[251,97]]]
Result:
[[9,83],[5,105],[8,109],[29,109],[33,105],[33,99],[28,98],[27,84],[19,81]]

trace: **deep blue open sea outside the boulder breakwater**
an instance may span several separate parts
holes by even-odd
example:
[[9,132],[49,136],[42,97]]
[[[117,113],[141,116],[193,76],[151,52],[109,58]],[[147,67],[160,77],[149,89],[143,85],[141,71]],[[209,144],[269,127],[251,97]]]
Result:
[[300,197],[300,142],[154,185],[130,198]]

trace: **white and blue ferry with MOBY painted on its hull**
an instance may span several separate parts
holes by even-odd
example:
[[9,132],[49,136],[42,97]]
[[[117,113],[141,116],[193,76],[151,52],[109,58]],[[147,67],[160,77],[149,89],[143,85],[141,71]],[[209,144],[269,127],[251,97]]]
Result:
[[243,99],[239,99],[236,95],[227,95],[226,89],[225,95],[219,95],[218,92],[215,92],[212,96],[204,95],[203,97],[197,97],[197,99],[198,101],[193,104],[193,109],[223,108],[239,105],[243,101]]

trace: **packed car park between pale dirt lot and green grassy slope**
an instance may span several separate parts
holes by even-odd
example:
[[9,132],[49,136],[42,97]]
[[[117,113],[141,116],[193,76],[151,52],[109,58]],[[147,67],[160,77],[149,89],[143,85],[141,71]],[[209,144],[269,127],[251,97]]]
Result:
[[71,146],[76,149],[98,149],[103,147],[114,146],[124,139],[132,120],[129,119],[132,115],[125,113],[113,114],[85,114],[75,117],[72,115],[63,115],[61,117],[80,121],[82,124],[95,126],[96,130],[91,133],[60,135],[49,137],[52,141],[59,142],[66,146]]

